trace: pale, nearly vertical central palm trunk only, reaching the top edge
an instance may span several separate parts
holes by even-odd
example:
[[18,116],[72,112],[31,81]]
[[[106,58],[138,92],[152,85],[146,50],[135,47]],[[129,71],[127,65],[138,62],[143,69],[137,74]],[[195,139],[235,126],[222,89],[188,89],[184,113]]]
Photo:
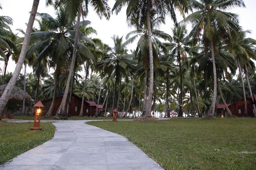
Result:
[[152,93],[153,93],[153,77],[154,77],[154,66],[153,66],[153,48],[152,48],[152,33],[151,33],[151,24],[150,24],[150,6],[151,0],[148,1],[147,7],[147,26],[148,26],[148,41],[149,41],[149,94],[148,100],[146,102],[146,115],[151,117],[151,105],[152,105]]

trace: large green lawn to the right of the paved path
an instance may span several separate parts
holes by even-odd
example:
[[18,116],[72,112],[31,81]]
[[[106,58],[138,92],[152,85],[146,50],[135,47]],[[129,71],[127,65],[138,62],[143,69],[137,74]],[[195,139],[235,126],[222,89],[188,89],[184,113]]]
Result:
[[127,137],[166,170],[256,169],[255,118],[88,124]]

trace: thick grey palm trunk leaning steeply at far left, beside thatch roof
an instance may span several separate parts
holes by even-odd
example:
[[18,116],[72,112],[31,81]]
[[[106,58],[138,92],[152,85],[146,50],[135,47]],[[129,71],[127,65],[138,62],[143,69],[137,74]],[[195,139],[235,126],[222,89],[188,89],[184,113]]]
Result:
[[12,93],[12,90],[16,84],[17,78],[20,74],[20,70],[22,68],[24,59],[25,59],[25,55],[27,52],[27,47],[29,45],[29,40],[30,40],[30,35],[31,35],[31,31],[32,31],[32,27],[35,21],[35,17],[36,17],[36,12],[38,9],[38,4],[39,4],[39,0],[34,0],[33,1],[33,6],[32,6],[32,10],[30,13],[30,17],[29,17],[29,22],[27,24],[27,30],[26,30],[26,35],[22,44],[22,48],[21,48],[21,52],[20,52],[20,56],[19,56],[19,60],[16,64],[15,70],[13,72],[12,78],[10,79],[8,85],[6,86],[6,88],[4,89],[3,94],[0,97],[0,112],[2,113],[7,102],[9,101],[10,95]]

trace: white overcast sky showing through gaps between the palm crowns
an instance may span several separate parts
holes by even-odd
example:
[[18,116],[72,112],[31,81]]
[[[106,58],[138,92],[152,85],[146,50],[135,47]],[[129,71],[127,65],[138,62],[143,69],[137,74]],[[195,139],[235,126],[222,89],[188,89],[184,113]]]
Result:
[[[32,8],[33,0],[0,0],[0,4],[3,10],[0,10],[0,16],[9,16],[13,19],[13,25],[11,26],[14,33],[17,28],[26,30],[25,23],[29,20],[29,11]],[[113,7],[115,0],[108,0],[110,7]],[[244,0],[246,8],[234,8],[230,12],[239,14],[240,25],[244,30],[252,30],[252,34],[248,37],[256,39],[256,0]],[[51,16],[54,16],[54,9],[52,7],[45,7],[45,0],[40,0],[39,13],[48,13]],[[93,8],[89,8],[89,14],[86,20],[91,21],[91,27],[97,30],[97,35],[93,37],[100,38],[104,43],[113,45],[111,37],[113,35],[123,36],[124,38],[127,33],[134,30],[134,28],[129,28],[126,23],[126,9],[123,8],[118,16],[113,14],[110,17],[110,20],[102,19],[94,13]],[[178,16],[178,20],[181,21],[182,17]],[[38,24],[34,23],[34,26],[37,27]],[[171,34],[171,28],[173,27],[173,22],[171,18],[166,18],[166,24],[162,25],[159,30],[165,31],[168,34]],[[189,29],[189,26],[188,26]],[[133,50],[136,47],[136,43],[133,43],[128,46],[128,49]],[[4,63],[0,62],[0,68],[3,69]],[[13,72],[16,64],[9,60],[7,71]],[[27,69],[28,72],[32,72],[31,68]],[[23,69],[21,71],[23,74]]]

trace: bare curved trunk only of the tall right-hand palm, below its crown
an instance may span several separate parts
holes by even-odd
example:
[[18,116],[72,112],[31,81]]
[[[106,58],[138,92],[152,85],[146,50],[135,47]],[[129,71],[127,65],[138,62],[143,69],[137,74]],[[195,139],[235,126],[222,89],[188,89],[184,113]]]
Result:
[[210,43],[211,43],[211,58],[213,60],[213,101],[211,103],[211,107],[206,116],[213,117],[215,113],[216,96],[217,96],[217,74],[216,74],[213,40],[211,40]]

